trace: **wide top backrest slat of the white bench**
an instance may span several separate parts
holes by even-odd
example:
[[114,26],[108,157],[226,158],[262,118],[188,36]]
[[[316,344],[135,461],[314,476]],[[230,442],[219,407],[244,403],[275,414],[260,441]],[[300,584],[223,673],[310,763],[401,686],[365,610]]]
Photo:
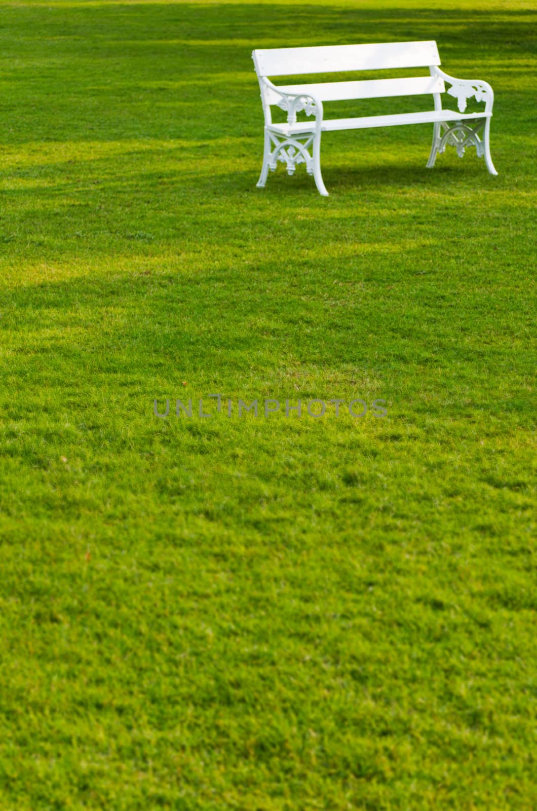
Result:
[[377,45],[320,45],[273,48],[252,54],[260,76],[285,76],[336,71],[376,71],[398,67],[440,65],[433,40],[384,42]]

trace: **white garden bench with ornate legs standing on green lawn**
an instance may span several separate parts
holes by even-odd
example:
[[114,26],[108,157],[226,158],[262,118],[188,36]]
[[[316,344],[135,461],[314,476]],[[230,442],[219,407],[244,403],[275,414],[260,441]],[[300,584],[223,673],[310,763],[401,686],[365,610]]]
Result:
[[[321,133],[366,127],[395,127],[399,124],[433,124],[432,148],[427,167],[434,166],[436,155],[444,152],[446,144],[455,146],[459,157],[462,157],[467,146],[474,145],[478,156],[484,155],[488,171],[498,174],[489,148],[494,101],[492,88],[487,82],[454,79],[440,71],[440,56],[434,41],[264,49],[255,50],[252,58],[260,83],[264,111],[264,157],[258,187],[264,187],[269,169],[276,169],[277,161],[286,164],[288,174],[294,173],[297,164],[305,163],[307,173],[314,176],[320,194],[328,196],[320,174]],[[366,79],[279,86],[269,79],[269,76],[409,67],[428,67],[429,75],[408,79]],[[440,93],[445,92],[445,81],[450,85],[449,96],[458,101],[458,111],[442,109]],[[324,118],[323,115],[324,101],[359,101],[390,96],[421,96],[426,93],[432,94],[434,109],[424,113],[357,118]],[[485,102],[483,112],[465,114],[466,101],[470,97]],[[273,123],[271,105],[277,105],[286,111],[287,123]],[[315,121],[297,121],[299,112],[304,112],[309,117],[315,116]],[[481,139],[479,131],[483,127]]]

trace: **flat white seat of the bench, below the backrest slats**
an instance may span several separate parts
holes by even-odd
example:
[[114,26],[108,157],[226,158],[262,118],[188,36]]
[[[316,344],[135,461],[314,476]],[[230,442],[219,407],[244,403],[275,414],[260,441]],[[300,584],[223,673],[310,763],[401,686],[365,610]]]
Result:
[[[396,113],[394,115],[370,115],[363,118],[327,118],[320,125],[321,132],[334,130],[365,130],[367,127],[397,127],[400,124],[434,124],[442,121],[464,121],[488,118],[492,113],[457,113],[453,109],[432,109],[425,113]],[[299,132],[314,132],[316,122],[301,121],[295,124],[268,124],[267,128],[281,135],[298,135]]]

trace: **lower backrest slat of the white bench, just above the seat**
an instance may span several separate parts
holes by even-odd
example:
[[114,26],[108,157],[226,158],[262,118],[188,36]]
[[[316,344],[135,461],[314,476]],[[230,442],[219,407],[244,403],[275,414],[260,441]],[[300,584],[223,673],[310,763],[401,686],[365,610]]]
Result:
[[[388,96],[423,96],[425,93],[443,93],[444,79],[440,76],[417,76],[409,79],[367,79],[361,82],[324,82],[322,84],[278,85],[284,93],[315,95],[320,101],[346,101],[374,99]],[[267,90],[269,104],[277,104],[281,97]]]

